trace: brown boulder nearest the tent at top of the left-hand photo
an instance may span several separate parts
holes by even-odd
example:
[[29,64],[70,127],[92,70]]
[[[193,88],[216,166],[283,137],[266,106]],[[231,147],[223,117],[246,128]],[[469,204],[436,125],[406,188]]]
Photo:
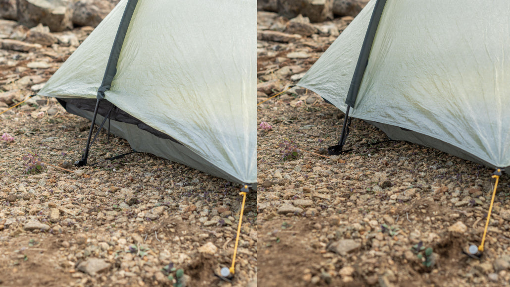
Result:
[[72,22],[78,26],[96,27],[113,7],[106,0],[78,0],[73,6]]

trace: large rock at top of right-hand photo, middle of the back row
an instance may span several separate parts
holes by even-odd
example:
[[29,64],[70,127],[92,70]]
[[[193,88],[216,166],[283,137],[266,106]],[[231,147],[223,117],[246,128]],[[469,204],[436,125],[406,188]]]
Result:
[[323,22],[333,19],[333,0],[278,0],[278,12],[289,19],[301,14]]

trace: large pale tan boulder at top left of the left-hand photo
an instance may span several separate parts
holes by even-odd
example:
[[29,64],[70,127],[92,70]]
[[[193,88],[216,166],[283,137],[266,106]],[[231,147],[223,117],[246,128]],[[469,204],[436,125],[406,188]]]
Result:
[[18,21],[31,28],[41,23],[52,32],[72,28],[71,2],[68,0],[17,0]]

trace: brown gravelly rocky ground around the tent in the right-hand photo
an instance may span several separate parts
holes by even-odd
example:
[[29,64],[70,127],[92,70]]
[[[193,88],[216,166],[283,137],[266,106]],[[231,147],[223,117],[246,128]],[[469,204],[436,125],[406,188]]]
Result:
[[300,88],[262,103],[295,84],[351,20],[258,12],[258,283],[508,285],[506,176],[486,251],[473,259],[463,250],[480,244],[493,170],[407,142],[367,145],[388,138],[358,119],[352,151],[329,157],[344,116],[336,107]]

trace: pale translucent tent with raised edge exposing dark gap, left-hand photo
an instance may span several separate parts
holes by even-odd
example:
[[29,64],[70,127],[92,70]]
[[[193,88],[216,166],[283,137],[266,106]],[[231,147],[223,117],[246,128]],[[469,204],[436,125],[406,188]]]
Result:
[[256,21],[252,0],[121,0],[38,94],[138,152],[255,183]]

